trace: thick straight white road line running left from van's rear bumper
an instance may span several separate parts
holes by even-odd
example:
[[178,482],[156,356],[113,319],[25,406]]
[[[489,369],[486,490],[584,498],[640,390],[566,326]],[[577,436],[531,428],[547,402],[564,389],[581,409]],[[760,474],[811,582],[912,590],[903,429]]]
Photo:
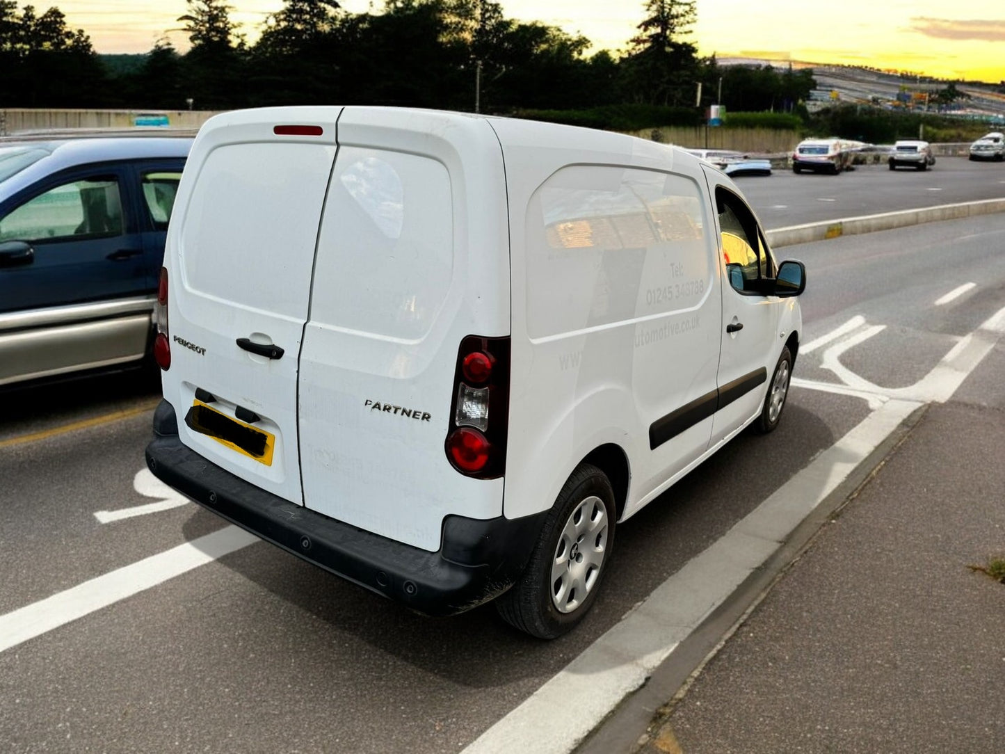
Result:
[[0,651],[258,541],[243,529],[227,526],[0,615]]

